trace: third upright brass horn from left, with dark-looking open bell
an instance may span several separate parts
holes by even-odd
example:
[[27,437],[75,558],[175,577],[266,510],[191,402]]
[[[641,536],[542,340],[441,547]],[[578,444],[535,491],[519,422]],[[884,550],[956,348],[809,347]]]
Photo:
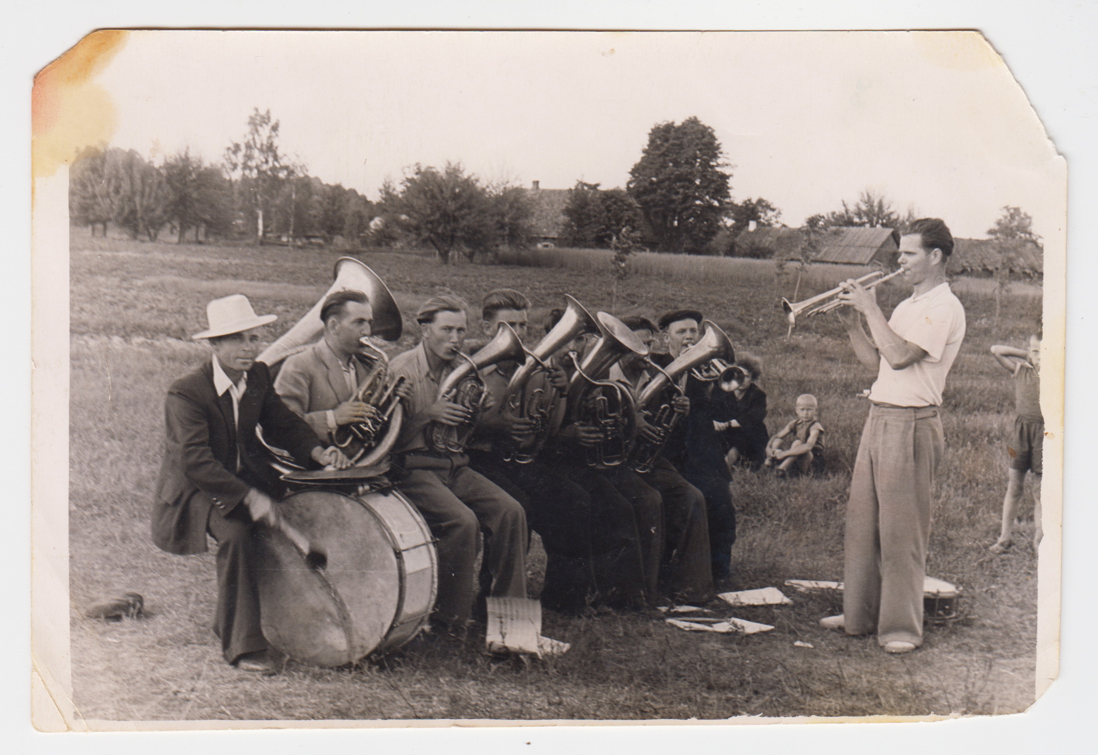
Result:
[[627,354],[647,357],[648,347],[617,317],[605,312],[596,317],[601,335],[594,347],[582,363],[571,353],[575,373],[569,381],[568,405],[572,421],[594,425],[602,433],[600,443],[587,449],[587,465],[610,469],[628,461],[637,414],[629,386],[606,380],[606,374]]

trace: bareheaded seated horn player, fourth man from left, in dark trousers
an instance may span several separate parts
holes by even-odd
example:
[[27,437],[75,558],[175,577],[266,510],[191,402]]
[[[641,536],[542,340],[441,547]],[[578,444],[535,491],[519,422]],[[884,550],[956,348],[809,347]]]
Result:
[[[500,324],[506,323],[525,340],[529,306],[529,300],[513,289],[490,291],[481,311],[485,337],[494,336]],[[576,613],[596,600],[591,561],[593,504],[582,486],[558,474],[542,459],[522,464],[509,461],[516,441],[534,440],[534,421],[517,417],[507,406],[507,385],[517,367],[506,361],[481,371],[494,406],[484,410],[477,424],[469,444],[469,466],[518,500],[530,529],[541,536],[547,555],[541,605]],[[546,381],[546,375],[535,374],[536,380]],[[568,380],[563,370],[557,369],[548,375],[548,384],[539,385],[546,391],[563,391]]]

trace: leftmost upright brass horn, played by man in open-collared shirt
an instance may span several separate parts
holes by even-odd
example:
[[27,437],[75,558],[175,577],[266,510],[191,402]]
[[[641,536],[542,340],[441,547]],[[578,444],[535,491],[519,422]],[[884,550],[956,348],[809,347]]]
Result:
[[480,351],[469,357],[458,352],[458,358],[464,362],[442,379],[438,386],[439,399],[459,404],[469,410],[469,418],[459,425],[444,425],[433,421],[424,428],[424,439],[427,446],[440,453],[461,453],[477,425],[477,417],[484,405],[484,381],[480,371],[497,362],[517,361],[526,352],[518,334],[506,323],[500,323],[495,337],[484,345]]

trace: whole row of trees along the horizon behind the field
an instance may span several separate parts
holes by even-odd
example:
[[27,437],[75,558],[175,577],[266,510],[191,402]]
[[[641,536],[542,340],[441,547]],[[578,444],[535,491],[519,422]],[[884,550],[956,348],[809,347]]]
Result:
[[[781,210],[763,198],[731,198],[731,166],[714,129],[697,117],[659,123],[629,172],[624,189],[582,180],[569,190],[558,243],[572,247],[649,247],[672,253],[763,256],[737,238],[752,224],[778,226]],[[1029,216],[1005,207],[988,233],[1000,238]],[[159,161],[135,150],[100,146],[83,150],[69,182],[71,222],[92,234],[109,225],[149,240],[168,232],[189,237],[301,244],[314,239],[346,246],[433,249],[449,262],[534,239],[531,192],[509,182],[489,183],[457,162],[415,165],[401,181],[386,180],[380,200],[309,176],[306,166],[280,145],[280,124],[254,109],[239,142],[229,142],[219,164],[182,149]],[[903,229],[914,209],[897,212],[879,192],[865,190],[841,210],[806,221],[809,237],[839,226]],[[1001,228],[1000,228],[1001,225]],[[1006,230],[1004,230],[1006,228]],[[772,250],[770,250],[772,251]],[[769,256],[769,255],[766,255]]]

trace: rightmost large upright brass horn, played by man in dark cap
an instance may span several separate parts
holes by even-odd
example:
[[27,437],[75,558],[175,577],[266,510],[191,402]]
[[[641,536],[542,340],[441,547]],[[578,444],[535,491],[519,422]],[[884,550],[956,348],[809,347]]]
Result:
[[[728,362],[725,361],[736,359],[732,342],[725,335],[725,331],[712,320],[703,320],[702,325],[705,327],[705,333],[698,342],[679,354],[665,369],[648,360],[649,365],[656,368],[657,374],[637,397],[637,409],[643,413],[645,420],[656,431],[657,440],[650,440],[643,436],[637,437],[637,442],[630,452],[631,466],[635,472],[650,472],[652,470],[652,462],[663,451],[663,447],[666,446],[668,439],[671,437],[671,431],[679,422],[680,415],[674,410],[671,402],[676,396],[686,395],[679,384],[680,378],[687,372],[696,375],[699,369],[718,371],[717,376],[709,380],[722,380],[720,374],[722,372],[732,370],[743,372],[738,367],[728,367]],[[721,367],[715,368],[715,364]]]

